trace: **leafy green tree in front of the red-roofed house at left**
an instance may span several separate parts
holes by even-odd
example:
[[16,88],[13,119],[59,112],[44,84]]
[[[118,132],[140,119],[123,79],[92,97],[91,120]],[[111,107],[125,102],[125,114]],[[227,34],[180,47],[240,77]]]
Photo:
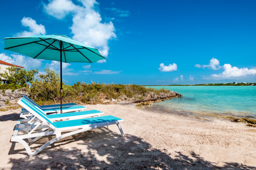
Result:
[[25,69],[18,69],[14,65],[6,69],[8,71],[4,71],[1,77],[11,84],[21,85],[22,87],[25,87],[27,82],[32,83],[35,80],[35,74],[38,73],[38,69],[26,71]]

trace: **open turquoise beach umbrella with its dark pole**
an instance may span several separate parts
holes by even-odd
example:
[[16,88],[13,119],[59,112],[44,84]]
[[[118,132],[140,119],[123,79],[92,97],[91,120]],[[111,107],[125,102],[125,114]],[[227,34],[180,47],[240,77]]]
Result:
[[62,113],[62,62],[96,62],[105,59],[97,48],[72,40],[65,35],[35,35],[5,38],[6,50],[35,59],[60,62],[61,67],[61,113]]

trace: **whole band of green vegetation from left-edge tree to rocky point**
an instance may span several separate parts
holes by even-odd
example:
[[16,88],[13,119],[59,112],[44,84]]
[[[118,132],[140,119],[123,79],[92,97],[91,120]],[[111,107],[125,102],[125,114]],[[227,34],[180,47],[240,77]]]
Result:
[[[37,74],[37,77],[35,77]],[[19,88],[27,88],[30,98],[40,105],[59,103],[60,101],[60,77],[54,70],[46,68],[44,74],[38,74],[38,70],[26,71],[25,69],[9,68],[1,75],[8,80],[8,84],[0,85],[2,93],[6,89],[12,91]],[[177,97],[175,92],[166,89],[145,88],[142,85],[105,84],[91,82],[77,82],[73,85],[63,83],[63,102],[76,103],[109,103],[109,102],[147,102],[157,99]]]

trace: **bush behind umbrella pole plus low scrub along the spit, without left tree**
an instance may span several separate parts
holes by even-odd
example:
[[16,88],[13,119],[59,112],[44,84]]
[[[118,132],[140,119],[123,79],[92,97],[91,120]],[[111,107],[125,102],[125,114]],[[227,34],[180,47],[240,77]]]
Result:
[[[39,104],[56,103],[60,100],[60,77],[55,71],[45,69],[45,74],[39,74],[32,82],[30,97]],[[64,102],[108,103],[111,101],[136,101],[148,97],[157,97],[169,93],[169,90],[145,88],[142,85],[104,84],[77,82],[74,85],[64,85]]]

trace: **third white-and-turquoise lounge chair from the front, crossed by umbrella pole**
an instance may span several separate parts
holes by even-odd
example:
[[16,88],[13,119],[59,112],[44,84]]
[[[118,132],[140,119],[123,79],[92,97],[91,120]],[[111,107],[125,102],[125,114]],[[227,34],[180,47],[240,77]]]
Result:
[[[40,108],[45,115],[52,114],[52,113],[60,113],[60,111],[61,111],[60,107],[42,108],[37,103],[35,103],[33,100],[29,99],[26,95],[23,96],[23,99],[26,100],[27,102],[31,103],[32,105]],[[67,113],[67,112],[75,112],[75,111],[84,111],[85,109],[86,108],[84,106],[79,106],[79,105],[65,106],[65,107],[62,108],[62,112]],[[23,118],[23,119],[28,119],[30,116],[32,116],[32,114],[29,113],[29,111],[27,111],[26,109],[24,109],[20,113],[20,117]]]

